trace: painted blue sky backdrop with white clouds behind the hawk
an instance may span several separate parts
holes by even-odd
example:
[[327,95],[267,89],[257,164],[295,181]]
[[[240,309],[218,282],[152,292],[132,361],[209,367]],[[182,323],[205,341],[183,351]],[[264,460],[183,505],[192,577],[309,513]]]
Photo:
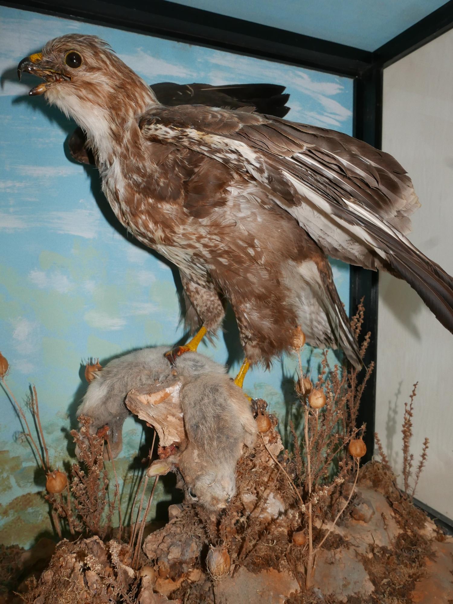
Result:
[[[19,400],[28,384],[36,385],[58,461],[66,455],[62,427],[69,427],[68,413],[74,416],[85,387],[80,364],[89,357],[103,363],[136,347],[170,345],[182,330],[171,269],[113,226],[97,171],[69,161],[63,150],[74,124],[43,98],[27,96],[36,80],[24,76],[18,82],[19,60],[51,37],[97,34],[147,82],[283,84],[291,94],[290,119],[347,133],[352,131],[353,84],[308,69],[13,8],[0,7],[0,17],[0,351],[10,362],[8,383]],[[334,273],[348,307],[349,268],[336,263]],[[222,363],[228,358],[222,336],[215,349],[202,345],[201,352]],[[294,368],[294,360],[286,359],[271,373],[251,371],[245,388],[268,399],[283,417],[282,376],[291,378]],[[14,441],[18,418],[1,391],[0,405],[0,453],[9,451],[21,460],[20,469],[5,470],[2,479],[0,501],[7,504],[39,487],[30,483],[33,458]],[[137,450],[140,434],[140,426],[128,420],[125,455]],[[13,520],[7,515],[2,522]]]

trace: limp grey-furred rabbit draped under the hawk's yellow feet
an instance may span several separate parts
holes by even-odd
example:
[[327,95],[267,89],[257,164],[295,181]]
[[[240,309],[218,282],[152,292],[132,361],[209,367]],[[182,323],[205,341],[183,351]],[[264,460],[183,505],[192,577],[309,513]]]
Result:
[[[167,471],[178,466],[190,500],[210,510],[225,507],[236,493],[236,463],[243,445],[251,448],[256,426],[241,388],[222,365],[199,353],[178,357],[173,368],[164,358],[167,347],[147,348],[110,361],[88,387],[78,416],[91,417],[92,431],[111,429],[114,457],[121,451],[121,431],[129,415],[124,400],[133,388],[181,381],[180,404],[187,445],[164,460]],[[160,462],[159,462],[160,463]]]

